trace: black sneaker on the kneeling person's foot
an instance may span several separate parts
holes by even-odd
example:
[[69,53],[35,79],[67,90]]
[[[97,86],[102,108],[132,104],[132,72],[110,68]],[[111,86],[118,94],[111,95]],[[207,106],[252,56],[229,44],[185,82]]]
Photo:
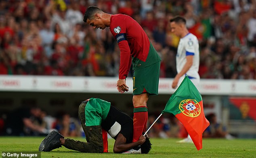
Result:
[[51,150],[61,147],[60,138],[64,138],[63,135],[56,131],[51,131],[41,142],[39,146],[40,152],[50,152]]

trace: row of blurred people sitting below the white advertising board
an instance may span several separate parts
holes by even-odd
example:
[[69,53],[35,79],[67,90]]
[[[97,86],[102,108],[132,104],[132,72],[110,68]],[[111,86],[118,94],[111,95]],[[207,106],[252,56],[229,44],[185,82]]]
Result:
[[[148,128],[156,118],[155,115],[149,114]],[[203,137],[233,138],[227,132],[227,128],[217,121],[214,113],[207,114],[206,118],[210,122],[210,126],[204,131]],[[64,111],[59,111],[55,116],[51,116],[41,108],[21,106],[0,116],[0,135],[45,136],[52,130],[58,131],[64,137],[85,137],[79,119]],[[188,133],[173,114],[166,114],[157,120],[148,135],[151,138],[185,138]]]

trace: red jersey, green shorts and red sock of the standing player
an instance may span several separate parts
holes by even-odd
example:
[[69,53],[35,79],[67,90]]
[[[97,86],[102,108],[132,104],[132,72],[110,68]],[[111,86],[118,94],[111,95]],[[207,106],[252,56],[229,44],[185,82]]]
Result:
[[[111,15],[111,33],[120,49],[119,79],[126,79],[131,63],[134,70],[133,95],[158,94],[160,57],[143,28],[128,15]],[[147,106],[134,108],[133,141],[146,130]]]

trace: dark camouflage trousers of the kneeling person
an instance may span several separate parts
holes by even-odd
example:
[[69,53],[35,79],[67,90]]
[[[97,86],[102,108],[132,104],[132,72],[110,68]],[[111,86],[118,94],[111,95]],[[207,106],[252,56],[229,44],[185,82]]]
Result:
[[65,139],[65,147],[71,150],[89,153],[103,153],[103,138],[101,126],[85,126],[84,108],[86,103],[82,102],[78,108],[79,120],[85,133],[86,141],[75,141]]

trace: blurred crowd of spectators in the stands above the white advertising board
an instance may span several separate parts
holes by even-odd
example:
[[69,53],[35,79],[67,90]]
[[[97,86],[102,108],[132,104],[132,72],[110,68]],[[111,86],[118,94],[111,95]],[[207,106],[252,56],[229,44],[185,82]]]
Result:
[[88,6],[141,24],[160,77],[176,75],[179,39],[168,22],[182,15],[199,39],[201,78],[256,79],[256,0],[1,0],[0,74],[118,76],[117,42],[83,22]]

